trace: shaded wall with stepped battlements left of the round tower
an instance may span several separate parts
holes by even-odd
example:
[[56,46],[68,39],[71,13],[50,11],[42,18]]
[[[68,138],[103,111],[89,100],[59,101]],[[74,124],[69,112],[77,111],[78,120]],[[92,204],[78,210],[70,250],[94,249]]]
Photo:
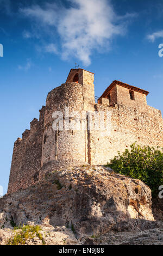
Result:
[[42,134],[45,107],[40,111],[40,119],[30,123],[30,130],[22,134],[14,144],[10,170],[8,193],[32,186],[38,180],[41,167]]

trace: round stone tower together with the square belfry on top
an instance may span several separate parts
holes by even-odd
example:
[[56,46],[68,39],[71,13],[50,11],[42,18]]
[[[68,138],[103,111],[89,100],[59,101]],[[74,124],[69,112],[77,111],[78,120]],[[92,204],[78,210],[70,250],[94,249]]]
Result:
[[[86,81],[84,72],[89,79]],[[85,83],[83,83],[83,77]],[[90,83],[92,81],[92,83]],[[92,95],[86,97],[91,84]],[[82,69],[70,71],[66,83],[48,93],[42,141],[40,178],[45,172],[88,162],[88,142],[84,108],[95,104],[93,74]]]

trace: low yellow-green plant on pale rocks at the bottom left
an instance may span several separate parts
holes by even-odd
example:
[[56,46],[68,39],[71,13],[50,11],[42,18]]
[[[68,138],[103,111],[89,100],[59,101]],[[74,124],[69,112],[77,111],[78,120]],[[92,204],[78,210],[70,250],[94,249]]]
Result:
[[[16,231],[17,229],[21,230]],[[15,227],[14,230],[16,233],[14,237],[9,239],[7,245],[25,245],[26,241],[28,239],[33,239],[35,235],[38,236],[39,239],[42,241],[42,244],[45,245],[45,240],[39,233],[39,231],[42,230],[39,225],[23,225],[22,227]]]

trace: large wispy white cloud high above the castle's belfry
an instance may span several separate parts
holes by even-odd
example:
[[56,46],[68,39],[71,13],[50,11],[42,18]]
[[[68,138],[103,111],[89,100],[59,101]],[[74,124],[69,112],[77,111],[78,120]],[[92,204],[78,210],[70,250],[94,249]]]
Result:
[[[118,17],[110,1],[107,0],[70,0],[70,8],[46,3],[43,8],[39,5],[21,8],[21,13],[35,19],[37,26],[42,26],[51,35],[54,42],[56,31],[61,40],[61,56],[64,59],[76,57],[84,65],[91,63],[92,51],[109,49],[115,35],[124,35],[126,19],[135,14]],[[48,28],[48,29],[47,29]],[[53,45],[53,44],[51,44]],[[52,47],[52,51],[57,53]],[[51,47],[49,47],[50,49]]]

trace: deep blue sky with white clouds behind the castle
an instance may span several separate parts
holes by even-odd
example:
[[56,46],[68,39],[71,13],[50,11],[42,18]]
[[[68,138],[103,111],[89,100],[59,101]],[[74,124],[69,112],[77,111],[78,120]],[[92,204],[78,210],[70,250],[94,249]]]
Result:
[[0,0],[0,185],[7,192],[17,137],[74,63],[95,72],[95,94],[113,80],[148,90],[163,112],[162,0]]

